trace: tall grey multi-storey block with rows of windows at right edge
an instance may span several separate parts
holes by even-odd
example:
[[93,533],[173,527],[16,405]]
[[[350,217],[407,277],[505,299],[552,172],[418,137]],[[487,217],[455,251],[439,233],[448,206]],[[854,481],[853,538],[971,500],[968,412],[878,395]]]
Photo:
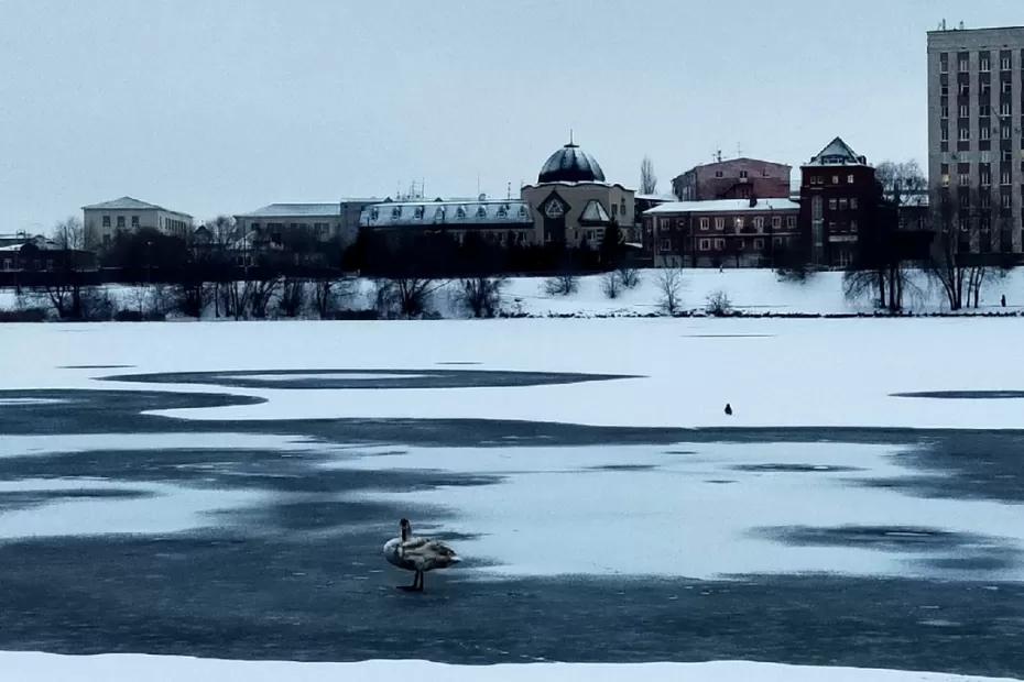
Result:
[[1024,246],[1024,26],[928,33],[928,177],[936,230],[961,250]]

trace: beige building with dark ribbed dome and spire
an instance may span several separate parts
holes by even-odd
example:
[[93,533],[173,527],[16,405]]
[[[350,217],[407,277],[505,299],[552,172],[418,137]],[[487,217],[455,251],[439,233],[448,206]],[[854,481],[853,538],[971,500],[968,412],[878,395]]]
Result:
[[537,244],[597,248],[609,226],[622,235],[633,229],[633,190],[606,182],[597,160],[571,140],[541,167],[536,184],[523,186],[521,197],[533,213]]

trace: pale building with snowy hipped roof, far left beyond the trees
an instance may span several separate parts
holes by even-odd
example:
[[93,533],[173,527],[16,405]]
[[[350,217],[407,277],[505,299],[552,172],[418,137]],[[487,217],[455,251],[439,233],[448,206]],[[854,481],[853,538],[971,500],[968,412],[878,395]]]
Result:
[[155,204],[131,197],[81,207],[86,249],[109,246],[118,232],[135,232],[143,228],[188,240],[192,237],[192,216],[172,211]]

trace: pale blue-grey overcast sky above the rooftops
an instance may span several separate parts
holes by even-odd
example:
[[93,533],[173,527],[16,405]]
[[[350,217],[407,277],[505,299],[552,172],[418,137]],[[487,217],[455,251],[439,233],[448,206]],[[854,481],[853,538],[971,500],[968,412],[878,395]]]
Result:
[[[505,196],[575,130],[607,178],[841,135],[926,155],[925,32],[1021,0],[0,0],[0,232],[130,195]],[[79,213],[80,215],[80,213]]]

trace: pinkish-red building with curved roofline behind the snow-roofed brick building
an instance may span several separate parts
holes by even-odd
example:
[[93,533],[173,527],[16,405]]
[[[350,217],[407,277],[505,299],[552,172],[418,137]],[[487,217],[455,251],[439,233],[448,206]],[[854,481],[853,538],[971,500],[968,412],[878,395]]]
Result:
[[756,158],[730,158],[694,166],[673,178],[672,191],[680,201],[715,199],[785,199],[789,174],[785,164]]

